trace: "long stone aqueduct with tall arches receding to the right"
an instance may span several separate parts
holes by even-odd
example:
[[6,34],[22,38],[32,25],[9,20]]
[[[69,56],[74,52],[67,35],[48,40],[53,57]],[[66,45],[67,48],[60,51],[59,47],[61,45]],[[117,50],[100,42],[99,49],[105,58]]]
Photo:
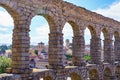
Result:
[[[120,80],[120,22],[103,17],[62,0],[0,0],[0,6],[13,17],[12,74],[0,80]],[[49,23],[49,65],[46,70],[29,68],[30,23],[36,16]],[[65,23],[73,29],[73,64],[64,66],[63,33]],[[84,30],[91,32],[92,64],[84,63]],[[104,34],[104,62],[101,62],[101,39]],[[112,37],[115,36],[114,47]],[[89,78],[89,79],[88,79]]]

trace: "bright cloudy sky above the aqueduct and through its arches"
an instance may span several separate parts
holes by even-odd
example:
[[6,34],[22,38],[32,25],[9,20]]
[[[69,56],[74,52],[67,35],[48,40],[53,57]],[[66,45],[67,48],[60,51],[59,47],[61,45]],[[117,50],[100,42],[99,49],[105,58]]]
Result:
[[[106,17],[120,21],[120,0],[64,0],[77,6],[84,7],[90,11],[102,14]],[[13,19],[8,12],[0,7],[0,44],[12,43]],[[42,16],[35,16],[30,25],[31,44],[36,45],[39,42],[48,44],[49,25]],[[72,42],[73,31],[69,23],[66,23],[63,29],[64,41],[70,39]],[[86,44],[90,44],[90,32],[85,30]]]

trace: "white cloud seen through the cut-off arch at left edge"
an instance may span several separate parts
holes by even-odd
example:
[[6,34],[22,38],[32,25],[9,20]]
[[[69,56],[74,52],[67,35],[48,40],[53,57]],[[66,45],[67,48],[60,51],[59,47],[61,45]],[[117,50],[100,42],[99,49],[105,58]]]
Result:
[[[11,18],[9,13],[0,10],[0,44],[12,43],[12,33],[9,34],[11,26],[13,26],[13,19]],[[8,34],[6,32],[8,32]]]

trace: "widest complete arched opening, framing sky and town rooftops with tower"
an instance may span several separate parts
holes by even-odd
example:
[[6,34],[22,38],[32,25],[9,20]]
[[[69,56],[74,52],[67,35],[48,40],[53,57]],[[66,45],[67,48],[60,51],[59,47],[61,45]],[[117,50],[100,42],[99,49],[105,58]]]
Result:
[[33,17],[30,25],[30,67],[46,68],[50,27],[44,16]]

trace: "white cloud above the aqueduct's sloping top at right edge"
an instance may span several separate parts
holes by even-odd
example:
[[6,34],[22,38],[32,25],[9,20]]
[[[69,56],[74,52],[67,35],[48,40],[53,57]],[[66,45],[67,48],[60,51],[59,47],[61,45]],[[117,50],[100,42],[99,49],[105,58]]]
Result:
[[94,12],[97,12],[106,17],[110,17],[110,18],[120,21],[120,1],[113,3],[108,8],[97,9]]

